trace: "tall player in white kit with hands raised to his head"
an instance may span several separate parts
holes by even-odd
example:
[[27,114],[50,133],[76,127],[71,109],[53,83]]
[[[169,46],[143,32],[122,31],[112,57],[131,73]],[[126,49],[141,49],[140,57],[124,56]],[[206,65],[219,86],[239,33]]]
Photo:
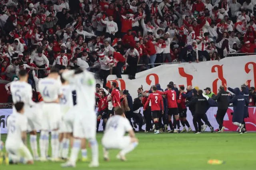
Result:
[[98,142],[96,140],[96,114],[95,114],[95,79],[94,76],[84,70],[65,70],[62,77],[75,85],[77,97],[77,111],[74,120],[74,144],[71,150],[70,160],[62,167],[75,167],[81,139],[86,138],[91,144],[92,162],[89,167],[98,167]]

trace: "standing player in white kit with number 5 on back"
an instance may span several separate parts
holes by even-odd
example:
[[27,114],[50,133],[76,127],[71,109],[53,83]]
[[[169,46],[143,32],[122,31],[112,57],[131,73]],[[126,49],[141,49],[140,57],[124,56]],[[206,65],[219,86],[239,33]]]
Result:
[[[19,81],[13,81],[10,85],[13,103],[23,102],[25,116],[28,117],[28,131],[30,132],[30,146],[35,160],[38,160],[36,130],[41,129],[42,112],[40,104],[32,101],[32,87],[28,84],[28,73],[20,70]],[[13,112],[16,112],[15,108]]]

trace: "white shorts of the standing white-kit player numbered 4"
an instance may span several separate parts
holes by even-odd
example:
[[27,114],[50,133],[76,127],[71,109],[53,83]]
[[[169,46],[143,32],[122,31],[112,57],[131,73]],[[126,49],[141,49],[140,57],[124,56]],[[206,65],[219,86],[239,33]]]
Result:
[[42,130],[54,130],[60,128],[62,118],[60,105],[58,103],[43,103],[42,105]]

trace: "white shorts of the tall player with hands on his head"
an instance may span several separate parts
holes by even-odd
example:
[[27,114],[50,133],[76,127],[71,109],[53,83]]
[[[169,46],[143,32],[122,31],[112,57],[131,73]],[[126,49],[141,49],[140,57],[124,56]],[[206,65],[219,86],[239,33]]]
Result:
[[96,138],[96,126],[97,126],[97,116],[92,112],[92,114],[81,116],[76,116],[74,120],[74,132],[73,136],[76,138]]

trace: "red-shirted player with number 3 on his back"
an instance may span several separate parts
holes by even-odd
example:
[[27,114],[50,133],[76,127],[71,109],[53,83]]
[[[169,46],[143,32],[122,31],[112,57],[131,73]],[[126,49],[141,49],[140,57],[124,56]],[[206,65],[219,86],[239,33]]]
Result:
[[177,99],[176,99],[176,91],[172,90],[172,85],[168,84],[167,85],[167,91],[161,92],[157,91],[160,95],[166,95],[167,98],[167,103],[168,103],[168,122],[171,130],[169,131],[170,133],[174,132],[174,129],[172,127],[172,115],[173,118],[176,120],[174,122],[174,128],[176,128],[177,125],[177,131],[180,133],[180,120],[179,120],[179,115],[178,115],[178,105],[177,105]]

